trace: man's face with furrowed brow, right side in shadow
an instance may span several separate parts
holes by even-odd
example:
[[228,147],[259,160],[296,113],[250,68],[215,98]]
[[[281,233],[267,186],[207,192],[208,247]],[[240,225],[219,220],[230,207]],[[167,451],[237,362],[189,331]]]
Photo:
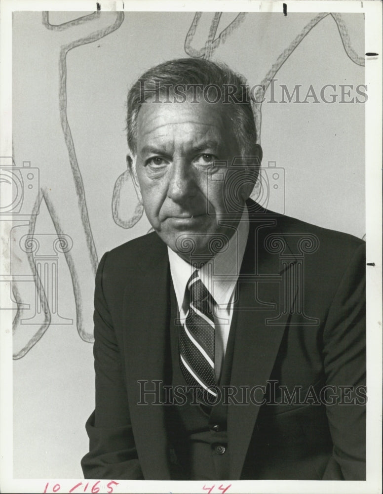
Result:
[[220,224],[228,214],[226,168],[214,163],[230,165],[239,155],[228,110],[187,100],[148,102],[138,114],[136,172],[145,212],[160,238],[180,255],[186,237],[196,245],[193,254],[207,255],[214,234],[230,238],[234,231]]

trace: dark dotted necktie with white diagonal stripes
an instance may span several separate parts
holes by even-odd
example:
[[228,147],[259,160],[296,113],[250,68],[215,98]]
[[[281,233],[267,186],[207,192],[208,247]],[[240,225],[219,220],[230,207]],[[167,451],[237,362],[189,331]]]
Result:
[[215,329],[214,299],[201,282],[198,271],[191,275],[187,288],[190,305],[180,329],[180,367],[189,386],[196,387],[196,398],[204,405],[215,403],[217,386],[214,374]]

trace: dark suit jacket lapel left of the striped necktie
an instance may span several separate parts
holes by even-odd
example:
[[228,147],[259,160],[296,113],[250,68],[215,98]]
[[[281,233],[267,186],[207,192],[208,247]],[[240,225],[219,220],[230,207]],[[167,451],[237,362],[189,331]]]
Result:
[[[143,259],[145,259],[145,264]],[[153,381],[169,383],[169,269],[166,246],[153,236],[153,249],[137,260],[124,292],[124,346],[129,410],[140,465],[147,480],[170,479],[166,407],[152,405]],[[142,382],[139,384],[139,381]],[[144,388],[145,386],[145,388]],[[158,400],[158,397],[156,398]],[[160,392],[159,400],[163,401]],[[149,405],[137,405],[147,401]]]

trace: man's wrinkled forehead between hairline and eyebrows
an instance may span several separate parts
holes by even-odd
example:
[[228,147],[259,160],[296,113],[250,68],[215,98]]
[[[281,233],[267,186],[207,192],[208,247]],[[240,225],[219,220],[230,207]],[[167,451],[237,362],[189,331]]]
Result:
[[219,141],[232,140],[228,109],[223,103],[205,101],[144,103],[137,118],[137,144],[148,140],[194,141],[204,136]]

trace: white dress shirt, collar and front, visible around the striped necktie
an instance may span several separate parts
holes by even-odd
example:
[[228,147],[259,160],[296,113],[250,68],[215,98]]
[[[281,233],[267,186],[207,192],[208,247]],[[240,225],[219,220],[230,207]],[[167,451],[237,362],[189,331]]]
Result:
[[[235,301],[235,286],[248,235],[249,214],[245,206],[238,227],[230,238],[228,247],[218,252],[198,269],[198,275],[202,283],[216,302],[213,314],[215,322],[214,368],[217,382],[219,382],[228,345]],[[186,285],[195,267],[182,259],[170,247],[168,247],[168,255],[180,319],[184,322],[189,309],[189,294],[185,293]]]

